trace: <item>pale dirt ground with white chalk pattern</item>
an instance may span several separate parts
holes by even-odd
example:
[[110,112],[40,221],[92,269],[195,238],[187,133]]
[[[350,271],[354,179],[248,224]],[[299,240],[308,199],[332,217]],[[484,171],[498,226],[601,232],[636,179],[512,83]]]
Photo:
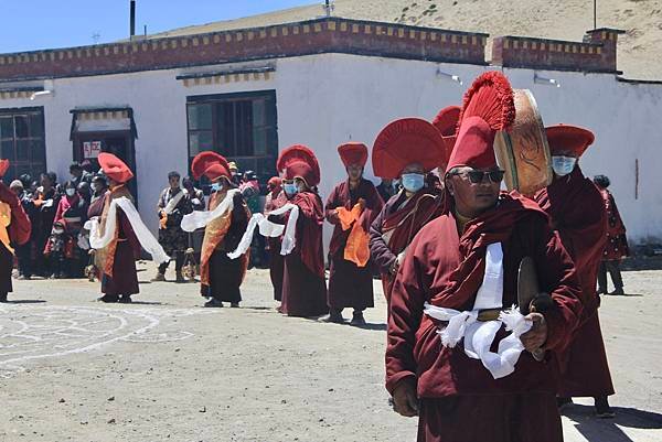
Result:
[[[356,328],[281,316],[264,270],[242,309],[207,310],[196,284],[139,268],[132,305],[94,302],[83,280],[15,282],[0,305],[0,441],[415,440],[383,387],[378,284]],[[600,310],[618,416],[596,420],[580,400],[566,441],[662,441],[662,271],[624,279],[633,295]]]

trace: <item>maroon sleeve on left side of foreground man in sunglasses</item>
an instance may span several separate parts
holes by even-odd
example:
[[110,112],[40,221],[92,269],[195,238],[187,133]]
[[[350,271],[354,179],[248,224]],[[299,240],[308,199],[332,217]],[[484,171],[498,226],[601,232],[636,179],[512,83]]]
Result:
[[417,236],[401,266],[391,294],[386,346],[386,389],[393,390],[403,379],[416,380],[414,346],[426,300],[426,241]]

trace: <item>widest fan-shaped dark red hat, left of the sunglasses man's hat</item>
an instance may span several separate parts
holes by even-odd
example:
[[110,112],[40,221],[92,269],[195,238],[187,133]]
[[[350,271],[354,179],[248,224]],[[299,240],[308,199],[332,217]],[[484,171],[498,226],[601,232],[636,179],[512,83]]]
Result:
[[383,179],[396,179],[408,164],[419,163],[426,172],[448,161],[441,133],[420,118],[388,123],[373,147],[373,171]]

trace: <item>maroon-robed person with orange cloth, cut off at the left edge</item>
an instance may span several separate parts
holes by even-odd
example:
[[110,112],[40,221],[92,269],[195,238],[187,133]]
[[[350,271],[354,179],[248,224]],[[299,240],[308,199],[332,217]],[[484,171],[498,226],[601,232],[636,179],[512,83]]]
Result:
[[[0,177],[9,169],[9,160],[0,160]],[[7,302],[7,294],[13,291],[14,247],[30,239],[30,218],[21,205],[19,196],[0,182],[0,302]]]

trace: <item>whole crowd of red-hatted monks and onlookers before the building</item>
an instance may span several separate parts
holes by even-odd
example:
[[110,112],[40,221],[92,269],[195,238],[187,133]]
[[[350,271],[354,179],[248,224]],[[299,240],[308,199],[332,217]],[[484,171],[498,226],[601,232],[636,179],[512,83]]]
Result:
[[[93,249],[100,300],[131,302],[135,260],[147,250],[159,263],[156,281],[171,260],[175,282],[199,274],[207,308],[239,306],[248,267],[268,266],[280,313],[344,323],[351,309],[359,326],[374,306],[376,272],[388,305],[386,388],[395,411],[419,417],[419,441],[560,441],[558,410],[573,397],[592,397],[599,417],[613,416],[598,306],[607,272],[612,293],[624,293],[626,229],[609,180],[581,172],[594,134],[579,127],[546,128],[547,187],[528,196],[501,190],[493,142],[515,111],[508,78],[488,72],[462,107],[431,122],[398,119],[378,133],[378,186],[363,176],[367,145],[340,145],[346,180],[325,204],[320,164],[306,145],[280,152],[261,208],[255,173],[201,152],[191,177],[168,175],[158,240],[132,205],[131,171],[102,153],[96,175],[73,164],[62,185],[53,174],[14,181],[11,192],[0,184],[0,216],[11,219],[0,229],[9,238],[0,259],[11,266],[15,247],[21,278],[77,277]],[[207,196],[195,185],[203,177]],[[333,226],[328,284],[324,222]],[[521,304],[526,269],[540,285]],[[6,298],[11,280],[4,289]]]

